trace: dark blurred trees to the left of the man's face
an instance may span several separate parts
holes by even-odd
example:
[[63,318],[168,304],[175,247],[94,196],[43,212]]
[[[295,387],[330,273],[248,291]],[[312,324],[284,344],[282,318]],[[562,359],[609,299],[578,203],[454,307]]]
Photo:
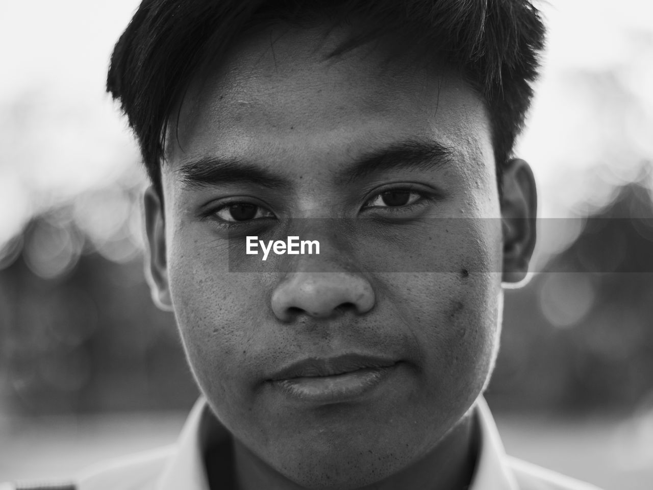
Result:
[[98,246],[73,215],[63,206],[31,220],[15,240],[20,253],[5,257],[0,270],[8,410],[189,407],[197,389],[174,318],[151,301],[135,246],[136,253],[116,253],[125,248],[121,228],[129,220]]

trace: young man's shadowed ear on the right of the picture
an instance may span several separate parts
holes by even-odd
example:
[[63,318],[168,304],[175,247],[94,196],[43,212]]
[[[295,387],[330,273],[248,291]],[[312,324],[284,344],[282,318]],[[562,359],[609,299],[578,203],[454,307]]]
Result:
[[511,159],[502,175],[503,282],[526,278],[535,248],[537,190],[528,163]]

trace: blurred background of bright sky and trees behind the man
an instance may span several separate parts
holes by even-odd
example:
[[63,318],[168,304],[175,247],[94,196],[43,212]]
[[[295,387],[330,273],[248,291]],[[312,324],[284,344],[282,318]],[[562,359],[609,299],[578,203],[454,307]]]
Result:
[[[3,1],[0,481],[173,442],[197,397],[144,282],[144,172],[104,94],[138,2]],[[540,191],[486,398],[507,451],[653,482],[653,7],[537,3],[549,48],[518,154]]]

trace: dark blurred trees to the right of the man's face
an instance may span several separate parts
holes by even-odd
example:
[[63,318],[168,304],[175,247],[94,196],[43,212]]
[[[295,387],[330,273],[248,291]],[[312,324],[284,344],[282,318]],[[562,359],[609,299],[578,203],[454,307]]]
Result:
[[[562,224],[562,223],[561,223]],[[653,203],[631,183],[508,291],[488,390],[500,408],[626,410],[653,393]]]

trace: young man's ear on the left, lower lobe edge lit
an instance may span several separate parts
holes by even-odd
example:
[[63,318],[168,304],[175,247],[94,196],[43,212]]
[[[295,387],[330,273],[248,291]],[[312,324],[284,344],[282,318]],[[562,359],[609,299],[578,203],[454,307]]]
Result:
[[144,195],[145,230],[147,234],[146,276],[154,303],[161,310],[172,311],[166,258],[165,219],[161,198],[150,186]]

